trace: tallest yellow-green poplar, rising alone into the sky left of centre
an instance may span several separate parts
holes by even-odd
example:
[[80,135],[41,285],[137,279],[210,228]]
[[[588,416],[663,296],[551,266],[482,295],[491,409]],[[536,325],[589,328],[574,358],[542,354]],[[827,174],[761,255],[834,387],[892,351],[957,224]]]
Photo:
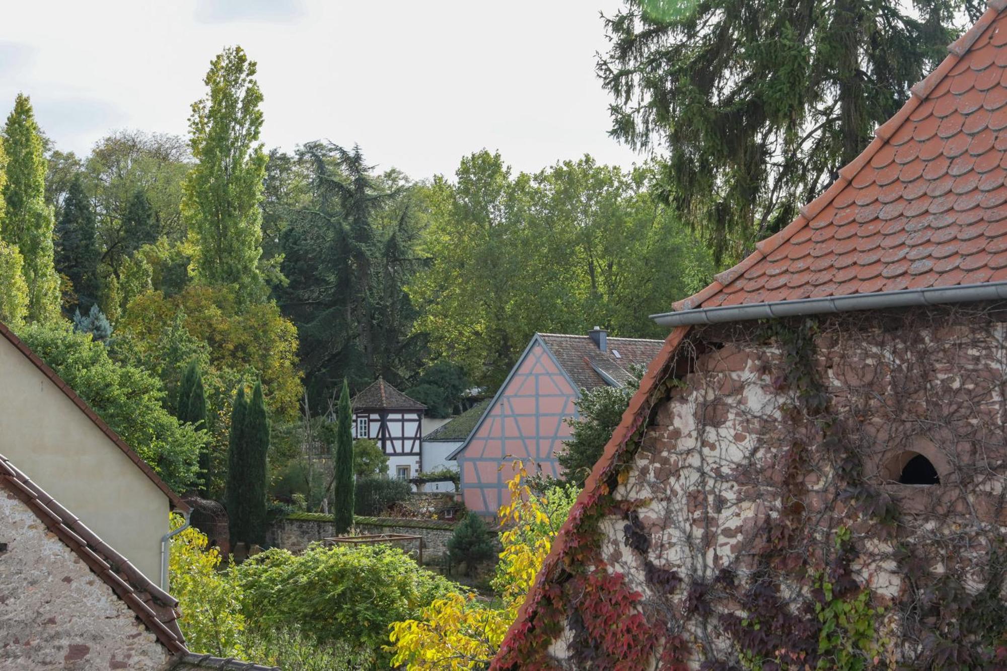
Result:
[[263,297],[263,179],[268,158],[259,142],[262,92],[256,63],[240,46],[210,62],[207,95],[192,104],[189,146],[197,163],[185,179],[182,213],[193,240],[196,277],[238,284]]

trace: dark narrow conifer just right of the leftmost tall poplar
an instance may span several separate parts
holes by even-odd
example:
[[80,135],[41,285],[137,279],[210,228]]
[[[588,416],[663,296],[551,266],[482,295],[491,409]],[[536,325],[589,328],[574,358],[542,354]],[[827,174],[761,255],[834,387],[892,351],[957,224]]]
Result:
[[62,216],[56,225],[58,247],[56,270],[69,278],[77,300],[74,304],[85,314],[98,302],[101,280],[98,264],[102,252],[98,247],[98,225],[84,190],[80,174],[74,177],[63,202]]

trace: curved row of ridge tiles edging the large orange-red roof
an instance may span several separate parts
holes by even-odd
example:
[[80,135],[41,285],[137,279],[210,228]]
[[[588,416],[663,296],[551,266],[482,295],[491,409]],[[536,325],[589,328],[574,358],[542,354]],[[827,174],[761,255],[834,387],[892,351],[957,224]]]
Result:
[[959,63],[968,53],[983,32],[995,18],[1007,8],[1007,0],[989,0],[983,15],[958,39],[948,45],[948,55],[926,77],[909,89],[908,100],[891,118],[874,130],[874,139],[854,158],[839,170],[839,176],[826,189],[801,208],[800,214],[777,233],[755,243],[755,250],[737,264],[714,275],[713,282],[695,294],[672,303],[676,311],[693,309],[718,294],[728,284],[747,272],[757,262],[768,257],[783,243],[793,238],[799,231],[805,229],[812,220],[821,214],[847,186],[853,183],[855,177],[874,158],[877,152],[902,127],[909,116],[922,104],[937,88],[938,84]]

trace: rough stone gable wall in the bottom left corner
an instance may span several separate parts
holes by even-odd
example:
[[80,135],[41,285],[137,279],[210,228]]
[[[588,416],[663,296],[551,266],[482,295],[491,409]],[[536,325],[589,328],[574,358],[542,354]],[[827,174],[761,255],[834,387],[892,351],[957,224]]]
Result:
[[167,650],[20,500],[0,490],[0,668],[166,669]]

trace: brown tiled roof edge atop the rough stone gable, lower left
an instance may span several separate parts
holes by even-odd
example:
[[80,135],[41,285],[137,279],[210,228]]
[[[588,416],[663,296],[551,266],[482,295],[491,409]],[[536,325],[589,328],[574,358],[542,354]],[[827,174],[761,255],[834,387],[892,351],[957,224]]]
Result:
[[[2,454],[0,486],[24,503],[49,531],[112,587],[171,654],[188,652],[176,622],[178,601],[173,596],[151,582]],[[146,598],[141,596],[143,592]]]

